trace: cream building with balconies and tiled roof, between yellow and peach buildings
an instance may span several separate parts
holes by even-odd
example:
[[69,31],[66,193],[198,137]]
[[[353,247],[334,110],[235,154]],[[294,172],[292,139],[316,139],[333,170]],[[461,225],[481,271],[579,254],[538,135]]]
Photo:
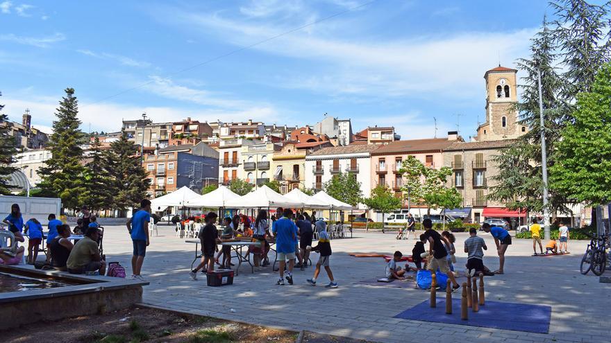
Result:
[[[305,184],[316,191],[334,175],[350,173],[361,184],[363,195],[371,194],[371,153],[379,146],[351,145],[322,148],[305,157]],[[365,205],[359,204],[359,209]]]

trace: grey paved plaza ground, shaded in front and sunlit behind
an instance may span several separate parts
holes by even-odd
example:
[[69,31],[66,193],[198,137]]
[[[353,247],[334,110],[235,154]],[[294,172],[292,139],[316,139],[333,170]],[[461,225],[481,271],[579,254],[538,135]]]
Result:
[[[494,240],[480,233],[489,250],[484,263],[498,267]],[[458,266],[464,266],[462,246],[467,234],[457,235]],[[231,286],[206,286],[203,274],[189,276],[193,244],[176,238],[174,229],[160,225],[151,238],[142,274],[150,282],[144,303],[188,313],[274,326],[294,331],[314,331],[374,342],[611,342],[609,332],[611,284],[599,283],[592,273],[579,273],[585,241],[569,242],[572,254],[535,258],[530,240],[513,240],[505,262],[505,275],[485,279],[486,299],[551,306],[549,334],[505,331],[453,324],[437,324],[393,318],[428,299],[428,292],[414,288],[364,285],[366,279],[384,276],[382,258],[354,258],[349,252],[411,254],[414,240],[395,240],[394,233],[355,232],[354,238],[332,240],[331,267],[340,288],[326,289],[324,270],[319,285],[305,282],[313,268],[294,271],[294,285],[278,286],[271,267],[251,274],[240,270]],[[119,261],[130,274],[132,244],[125,227],[106,227],[104,252],[107,261]],[[273,253],[272,253],[273,254]],[[312,261],[317,261],[312,254]],[[462,272],[463,267],[459,270]],[[458,281],[462,283],[463,277]],[[398,282],[398,281],[395,281]],[[444,297],[444,293],[440,294]],[[460,291],[455,292],[460,297]],[[444,311],[443,308],[439,308]],[[454,310],[460,315],[460,309]]]

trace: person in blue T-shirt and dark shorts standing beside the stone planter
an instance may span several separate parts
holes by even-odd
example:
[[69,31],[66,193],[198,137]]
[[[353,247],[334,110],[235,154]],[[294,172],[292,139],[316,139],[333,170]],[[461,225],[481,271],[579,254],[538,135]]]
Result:
[[131,258],[132,279],[143,280],[140,272],[144,263],[144,256],[149,246],[149,222],[151,221],[151,201],[142,200],[140,210],[127,221],[127,230],[133,243],[133,256]]

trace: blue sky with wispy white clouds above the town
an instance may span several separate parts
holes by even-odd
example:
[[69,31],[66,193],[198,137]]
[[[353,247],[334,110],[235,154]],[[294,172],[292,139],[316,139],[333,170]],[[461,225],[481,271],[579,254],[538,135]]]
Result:
[[287,125],[326,112],[354,130],[394,125],[403,139],[433,137],[433,117],[444,136],[460,114],[467,138],[485,116],[485,71],[499,58],[514,67],[553,14],[532,0],[354,9],[367,2],[0,0],[0,103],[15,121],[29,108],[45,129],[74,87],[85,131],[119,130],[142,112]]

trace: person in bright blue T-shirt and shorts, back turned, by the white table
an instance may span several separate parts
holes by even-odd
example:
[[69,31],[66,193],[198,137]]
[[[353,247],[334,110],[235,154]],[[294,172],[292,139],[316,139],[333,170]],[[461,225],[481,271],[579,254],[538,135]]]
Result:
[[285,209],[283,217],[276,220],[271,227],[271,231],[276,236],[276,252],[280,261],[280,279],[276,285],[284,285],[284,270],[286,260],[289,260],[289,267],[286,279],[290,285],[293,284],[293,267],[295,265],[295,246],[297,244],[297,226],[291,220],[293,211]]

